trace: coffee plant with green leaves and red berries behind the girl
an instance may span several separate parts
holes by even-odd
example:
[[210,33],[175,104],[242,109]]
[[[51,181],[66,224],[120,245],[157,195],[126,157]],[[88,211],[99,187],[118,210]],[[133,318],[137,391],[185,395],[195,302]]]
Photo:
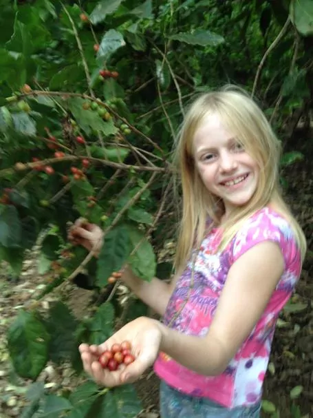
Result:
[[[171,149],[193,97],[244,85],[285,141],[310,120],[312,1],[2,0],[0,22],[0,260],[17,280],[40,240],[45,273],[8,332],[14,370],[33,381],[22,416],[134,417],[131,385],[47,393],[36,379],[49,361],[80,373],[78,344],[127,318],[112,272],[169,277],[158,250],[175,238]],[[67,239],[78,217],[104,231],[98,258]],[[82,321],[66,301],[38,308],[68,282],[96,295]]]

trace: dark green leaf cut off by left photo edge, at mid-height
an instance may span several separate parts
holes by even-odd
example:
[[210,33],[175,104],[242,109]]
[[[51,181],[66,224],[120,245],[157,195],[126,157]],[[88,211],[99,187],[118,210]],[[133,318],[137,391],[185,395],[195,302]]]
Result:
[[7,205],[1,209],[0,205],[0,244],[7,248],[20,247],[21,231],[17,208]]

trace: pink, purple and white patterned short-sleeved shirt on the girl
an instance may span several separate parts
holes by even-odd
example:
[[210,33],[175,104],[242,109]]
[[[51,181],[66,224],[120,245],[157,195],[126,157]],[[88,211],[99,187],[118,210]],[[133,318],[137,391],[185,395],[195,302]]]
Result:
[[299,280],[301,254],[288,222],[268,207],[249,218],[224,251],[215,253],[219,239],[219,229],[213,229],[203,240],[195,261],[191,294],[186,302],[192,268],[189,262],[171,295],[164,324],[169,324],[186,302],[171,328],[188,335],[206,335],[230,267],[259,242],[270,240],[279,245],[285,261],[283,275],[263,315],[224,373],[213,377],[199,375],[165,353],[158,356],[154,370],[167,384],[188,395],[208,397],[228,408],[251,406],[261,399],[277,317]]

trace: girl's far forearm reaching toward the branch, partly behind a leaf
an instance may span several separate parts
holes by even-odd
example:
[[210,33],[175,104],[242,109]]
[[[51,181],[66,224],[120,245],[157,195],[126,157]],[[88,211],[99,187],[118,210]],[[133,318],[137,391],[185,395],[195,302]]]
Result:
[[158,278],[153,278],[151,282],[144,282],[133,274],[130,267],[125,268],[121,280],[153,311],[161,316],[164,315],[171,297],[171,286],[169,284]]

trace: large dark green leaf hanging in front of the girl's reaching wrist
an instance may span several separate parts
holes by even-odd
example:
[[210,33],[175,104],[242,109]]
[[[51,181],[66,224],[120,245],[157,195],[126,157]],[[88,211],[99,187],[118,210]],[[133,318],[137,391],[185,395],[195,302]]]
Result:
[[131,253],[129,231],[124,225],[111,229],[105,236],[98,258],[96,279],[99,286],[106,286],[113,271],[119,271]]

